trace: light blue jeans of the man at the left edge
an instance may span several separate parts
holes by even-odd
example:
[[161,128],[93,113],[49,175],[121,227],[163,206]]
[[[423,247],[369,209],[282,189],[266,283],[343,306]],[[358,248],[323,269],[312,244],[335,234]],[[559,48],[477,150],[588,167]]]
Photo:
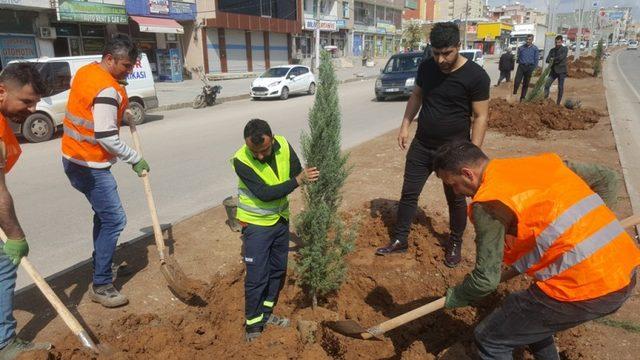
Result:
[[16,319],[13,317],[13,290],[16,288],[16,271],[0,247],[0,348],[16,336]]

